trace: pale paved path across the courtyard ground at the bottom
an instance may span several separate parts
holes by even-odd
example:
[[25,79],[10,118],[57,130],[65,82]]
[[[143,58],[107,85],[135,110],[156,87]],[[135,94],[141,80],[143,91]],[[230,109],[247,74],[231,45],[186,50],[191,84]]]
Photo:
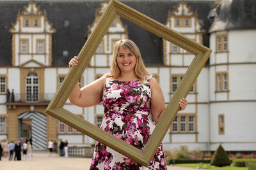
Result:
[[[14,155],[13,155],[14,156]],[[49,157],[48,152],[33,152],[32,160],[9,161],[2,157],[0,169],[3,170],[88,170],[92,159],[59,157],[53,153]],[[187,167],[168,166],[168,170],[193,170]],[[195,170],[195,169],[194,169]]]

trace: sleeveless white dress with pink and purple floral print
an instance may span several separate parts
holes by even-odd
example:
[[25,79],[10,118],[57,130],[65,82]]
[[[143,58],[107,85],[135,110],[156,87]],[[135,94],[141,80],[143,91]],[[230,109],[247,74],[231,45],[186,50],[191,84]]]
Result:
[[[149,117],[151,78],[146,76],[141,84],[139,80],[118,81],[107,77],[102,95],[104,118],[100,128],[140,150],[143,150],[156,127]],[[167,167],[162,144],[149,166],[145,167],[97,141],[90,169],[160,170]]]

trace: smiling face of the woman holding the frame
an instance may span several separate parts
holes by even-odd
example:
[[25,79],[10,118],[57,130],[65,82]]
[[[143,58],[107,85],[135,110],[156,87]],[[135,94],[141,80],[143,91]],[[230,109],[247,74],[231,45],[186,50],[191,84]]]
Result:
[[120,47],[118,50],[118,55],[116,57],[117,65],[121,73],[129,73],[134,71],[136,65],[136,56],[129,49]]

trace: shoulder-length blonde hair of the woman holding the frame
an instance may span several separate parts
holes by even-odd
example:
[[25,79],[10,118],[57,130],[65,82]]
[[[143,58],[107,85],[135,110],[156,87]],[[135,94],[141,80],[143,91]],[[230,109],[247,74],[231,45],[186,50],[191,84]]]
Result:
[[135,55],[136,64],[134,69],[135,69],[135,74],[136,76],[138,76],[140,82],[144,81],[145,76],[151,75],[150,73],[148,73],[145,67],[145,64],[141,58],[141,53],[138,46],[129,39],[122,39],[122,40],[116,41],[115,43],[115,48],[113,52],[113,61],[110,67],[110,73],[108,74],[109,76],[113,76],[113,78],[117,78],[121,74],[120,68],[117,65],[117,56],[120,48],[123,48],[125,50],[128,49]]

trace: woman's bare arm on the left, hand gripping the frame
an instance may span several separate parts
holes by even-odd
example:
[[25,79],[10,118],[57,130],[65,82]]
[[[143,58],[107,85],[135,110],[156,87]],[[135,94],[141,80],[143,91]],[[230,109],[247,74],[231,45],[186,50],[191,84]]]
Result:
[[[76,66],[77,63],[78,58],[74,57],[70,60],[68,66]],[[102,100],[101,98],[105,82],[106,77],[102,76],[101,78],[93,81],[81,89],[79,87],[79,83],[77,82],[68,99],[71,103],[80,107],[89,107],[94,106],[95,104],[99,104]]]

